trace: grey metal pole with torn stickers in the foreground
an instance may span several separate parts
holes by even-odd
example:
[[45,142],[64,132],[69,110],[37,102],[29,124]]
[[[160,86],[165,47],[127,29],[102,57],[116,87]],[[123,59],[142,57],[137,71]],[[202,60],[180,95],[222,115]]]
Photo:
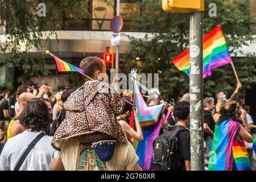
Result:
[[190,13],[190,122],[191,170],[204,170],[203,127],[203,16],[202,11]]

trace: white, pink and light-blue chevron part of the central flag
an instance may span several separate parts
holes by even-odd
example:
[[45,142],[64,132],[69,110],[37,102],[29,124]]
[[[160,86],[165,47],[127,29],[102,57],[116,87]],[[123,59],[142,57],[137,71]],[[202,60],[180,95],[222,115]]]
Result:
[[136,82],[134,82],[134,100],[135,107],[138,109],[138,119],[141,122],[141,126],[155,125],[158,122],[164,104],[147,107]]

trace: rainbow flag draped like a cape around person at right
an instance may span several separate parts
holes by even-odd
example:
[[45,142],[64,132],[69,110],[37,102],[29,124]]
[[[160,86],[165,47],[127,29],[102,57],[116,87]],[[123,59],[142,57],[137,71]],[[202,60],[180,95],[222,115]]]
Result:
[[251,163],[243,140],[236,140],[241,124],[226,119],[214,129],[209,171],[232,171],[233,162],[238,171],[251,171]]

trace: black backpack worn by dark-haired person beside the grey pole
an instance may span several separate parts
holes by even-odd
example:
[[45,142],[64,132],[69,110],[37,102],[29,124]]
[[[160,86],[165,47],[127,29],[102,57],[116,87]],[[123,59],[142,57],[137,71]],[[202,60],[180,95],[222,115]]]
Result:
[[152,159],[153,171],[179,171],[181,170],[177,135],[186,128],[171,126],[154,141],[154,154]]

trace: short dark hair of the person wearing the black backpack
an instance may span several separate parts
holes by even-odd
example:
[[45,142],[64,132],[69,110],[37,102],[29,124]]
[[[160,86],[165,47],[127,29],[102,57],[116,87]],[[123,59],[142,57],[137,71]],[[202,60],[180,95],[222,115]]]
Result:
[[189,115],[189,102],[188,101],[181,101],[175,104],[174,106],[174,115],[179,120],[184,120],[188,118]]

